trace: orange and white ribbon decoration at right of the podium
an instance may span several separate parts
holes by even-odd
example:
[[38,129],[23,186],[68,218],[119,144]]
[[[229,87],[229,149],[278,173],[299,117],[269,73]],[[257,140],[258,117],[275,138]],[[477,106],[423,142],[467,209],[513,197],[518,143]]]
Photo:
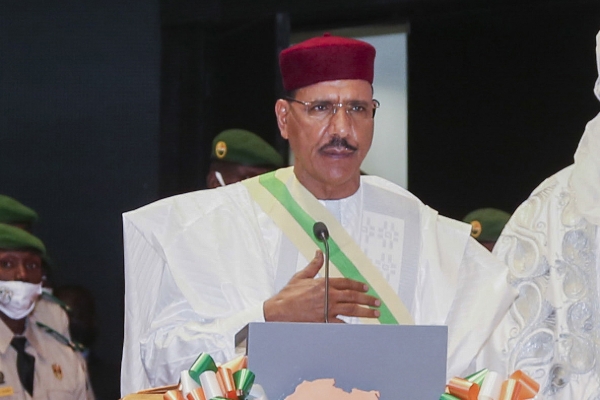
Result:
[[466,378],[452,378],[440,400],[529,400],[540,385],[521,370],[502,381],[497,372],[482,369]]

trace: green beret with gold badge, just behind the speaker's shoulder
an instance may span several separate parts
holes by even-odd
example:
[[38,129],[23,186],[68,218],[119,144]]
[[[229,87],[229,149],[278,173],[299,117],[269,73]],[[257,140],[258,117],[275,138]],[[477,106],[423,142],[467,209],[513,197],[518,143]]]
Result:
[[258,135],[244,129],[227,129],[212,143],[211,159],[242,165],[283,166],[283,157]]

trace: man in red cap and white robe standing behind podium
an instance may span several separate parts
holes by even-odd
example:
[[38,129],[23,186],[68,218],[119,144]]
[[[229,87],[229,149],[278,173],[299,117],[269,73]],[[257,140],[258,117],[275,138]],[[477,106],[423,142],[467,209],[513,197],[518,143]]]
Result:
[[[176,383],[201,352],[231,359],[234,335],[248,322],[323,321],[323,254],[291,216],[294,206],[285,208],[290,199],[310,223],[326,221],[331,239],[362,260],[359,275],[370,274],[369,285],[343,272],[330,280],[330,321],[385,315],[384,323],[448,325],[448,376],[473,367],[516,291],[469,225],[388,181],[361,177],[379,105],[374,57],[364,42],[327,35],[284,50],[289,97],[275,112],[293,169],[124,214],[123,394]],[[290,197],[273,194],[270,203],[277,188],[269,193],[268,183]],[[278,208],[284,216],[274,216]]]

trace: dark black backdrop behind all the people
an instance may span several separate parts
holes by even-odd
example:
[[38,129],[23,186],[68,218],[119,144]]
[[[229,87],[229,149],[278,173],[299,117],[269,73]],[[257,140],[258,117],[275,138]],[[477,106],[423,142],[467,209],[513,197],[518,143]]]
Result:
[[98,302],[118,365],[121,213],[202,187],[225,128],[286,154],[290,32],[409,24],[409,189],[442,214],[513,211],[599,110],[597,0],[0,2],[0,193],[36,209],[56,281]]

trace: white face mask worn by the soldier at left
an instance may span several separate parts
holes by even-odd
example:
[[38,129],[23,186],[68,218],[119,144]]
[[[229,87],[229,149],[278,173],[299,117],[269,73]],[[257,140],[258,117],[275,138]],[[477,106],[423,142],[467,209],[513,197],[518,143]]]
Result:
[[11,319],[25,318],[41,293],[41,282],[0,281],[0,311]]

